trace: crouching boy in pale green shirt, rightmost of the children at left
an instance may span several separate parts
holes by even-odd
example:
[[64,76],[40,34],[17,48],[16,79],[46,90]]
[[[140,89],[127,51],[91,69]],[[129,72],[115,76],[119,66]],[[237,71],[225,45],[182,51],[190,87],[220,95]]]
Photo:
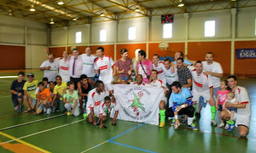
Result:
[[79,112],[79,103],[77,103],[78,93],[76,90],[74,90],[75,82],[68,81],[67,86],[68,86],[68,89],[66,91],[66,94],[63,95],[64,107],[68,111],[67,115],[78,116],[80,112]]

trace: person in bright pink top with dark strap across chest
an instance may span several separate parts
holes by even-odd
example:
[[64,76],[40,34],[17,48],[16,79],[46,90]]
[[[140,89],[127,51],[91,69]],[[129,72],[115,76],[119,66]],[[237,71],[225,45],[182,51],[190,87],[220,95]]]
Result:
[[143,83],[149,83],[150,73],[153,70],[153,65],[150,60],[146,60],[146,53],[144,50],[140,50],[138,53],[138,63],[136,65],[135,75],[141,74],[143,77]]

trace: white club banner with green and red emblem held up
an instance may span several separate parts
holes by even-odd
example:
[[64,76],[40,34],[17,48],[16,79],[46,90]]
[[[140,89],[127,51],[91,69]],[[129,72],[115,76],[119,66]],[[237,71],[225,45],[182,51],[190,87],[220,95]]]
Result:
[[[119,107],[119,120],[158,125],[158,104],[164,96],[163,88],[123,84],[116,84],[113,87]],[[114,113],[111,111],[110,117],[113,117]]]

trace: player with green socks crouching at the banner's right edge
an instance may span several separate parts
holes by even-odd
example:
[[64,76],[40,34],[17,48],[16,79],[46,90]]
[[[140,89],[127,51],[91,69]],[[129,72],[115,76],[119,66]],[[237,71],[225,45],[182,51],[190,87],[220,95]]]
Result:
[[[151,76],[152,78],[152,82],[150,82],[150,86],[151,87],[162,87],[164,89],[164,94],[167,95],[169,90],[168,88],[166,88],[165,86],[165,82],[163,82],[163,80],[158,79],[157,78],[157,71],[156,70],[152,70],[151,71]],[[159,123],[159,127],[164,127],[165,125],[165,105],[167,104],[167,98],[166,97],[161,97],[160,101],[159,101],[159,114],[160,114],[160,123]]]

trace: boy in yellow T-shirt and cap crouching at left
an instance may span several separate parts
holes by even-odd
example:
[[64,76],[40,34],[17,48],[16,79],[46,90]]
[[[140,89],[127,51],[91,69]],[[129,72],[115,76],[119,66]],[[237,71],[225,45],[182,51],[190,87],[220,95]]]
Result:
[[27,105],[28,109],[25,111],[25,113],[32,111],[36,106],[36,88],[38,81],[34,80],[34,73],[28,73],[27,75],[28,81],[25,82],[23,86],[24,91],[24,101]]

